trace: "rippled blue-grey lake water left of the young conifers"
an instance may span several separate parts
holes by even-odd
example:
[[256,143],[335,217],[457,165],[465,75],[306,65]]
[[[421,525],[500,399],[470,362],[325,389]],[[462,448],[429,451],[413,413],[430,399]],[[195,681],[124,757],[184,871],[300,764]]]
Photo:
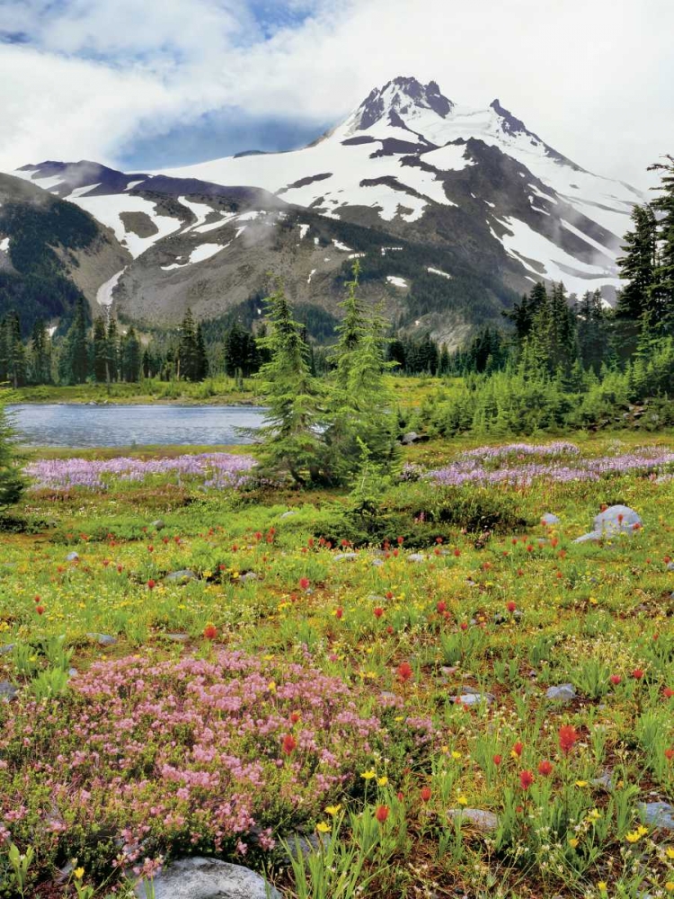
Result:
[[264,409],[250,405],[10,405],[20,441],[31,447],[130,447],[250,443]]

